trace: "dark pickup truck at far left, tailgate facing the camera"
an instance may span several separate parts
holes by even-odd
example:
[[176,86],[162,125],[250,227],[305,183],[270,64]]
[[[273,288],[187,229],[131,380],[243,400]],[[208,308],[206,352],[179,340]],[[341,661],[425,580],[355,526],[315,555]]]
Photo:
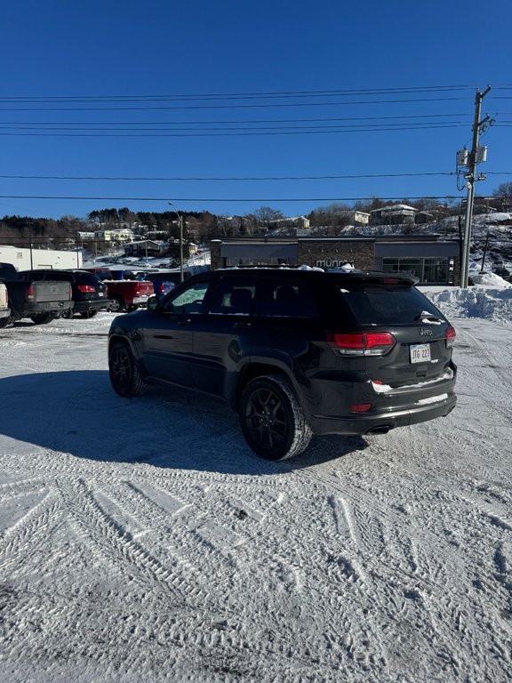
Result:
[[9,317],[0,317],[0,327],[29,317],[36,325],[44,325],[73,306],[71,285],[56,281],[23,281],[12,263],[0,262],[0,282],[7,287]]

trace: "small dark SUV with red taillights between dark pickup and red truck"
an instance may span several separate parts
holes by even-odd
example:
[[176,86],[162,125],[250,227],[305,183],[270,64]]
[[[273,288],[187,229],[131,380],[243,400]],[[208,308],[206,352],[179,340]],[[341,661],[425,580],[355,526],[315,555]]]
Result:
[[25,280],[65,281],[71,285],[73,308],[60,317],[71,318],[75,313],[80,317],[93,317],[100,309],[108,306],[107,287],[100,278],[87,270],[79,269],[36,269],[21,270],[20,278]]

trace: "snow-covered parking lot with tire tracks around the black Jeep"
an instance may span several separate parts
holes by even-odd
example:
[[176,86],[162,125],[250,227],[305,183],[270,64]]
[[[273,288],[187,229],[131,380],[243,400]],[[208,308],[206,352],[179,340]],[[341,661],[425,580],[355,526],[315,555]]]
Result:
[[0,331],[0,679],[512,678],[512,287],[442,420],[265,462],[208,398],[108,381],[111,314]]

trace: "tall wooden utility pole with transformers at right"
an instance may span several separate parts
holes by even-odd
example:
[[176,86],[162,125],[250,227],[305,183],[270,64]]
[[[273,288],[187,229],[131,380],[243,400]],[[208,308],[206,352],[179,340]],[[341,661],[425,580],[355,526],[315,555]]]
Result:
[[463,165],[468,166],[468,173],[464,174],[467,181],[468,197],[466,199],[466,216],[464,220],[464,243],[462,249],[462,262],[460,263],[460,286],[466,288],[468,286],[469,275],[469,248],[471,245],[471,221],[473,220],[473,205],[475,203],[475,183],[476,181],[484,180],[484,176],[476,176],[476,165],[484,161],[484,154],[481,155],[481,150],[485,152],[486,148],[478,147],[478,140],[480,136],[480,129],[490,121],[489,117],[484,117],[480,121],[482,111],[482,100],[485,95],[491,90],[488,85],[484,92],[476,91],[475,99],[475,122],[473,124],[473,143],[471,151],[468,153],[468,159]]

